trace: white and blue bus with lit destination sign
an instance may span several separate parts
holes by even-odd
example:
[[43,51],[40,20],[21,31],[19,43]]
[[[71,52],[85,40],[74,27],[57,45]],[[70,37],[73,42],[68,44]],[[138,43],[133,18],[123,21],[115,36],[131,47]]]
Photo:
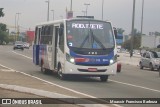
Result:
[[35,28],[33,62],[41,71],[96,76],[107,81],[117,72],[116,33],[111,22],[89,18],[49,21]]

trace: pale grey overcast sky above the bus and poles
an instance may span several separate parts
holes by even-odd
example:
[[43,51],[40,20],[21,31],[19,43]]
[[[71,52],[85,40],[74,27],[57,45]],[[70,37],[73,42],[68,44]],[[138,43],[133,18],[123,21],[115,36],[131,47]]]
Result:
[[[40,22],[47,21],[46,0],[0,0],[0,8],[4,8],[5,17],[0,18],[0,23],[9,26],[15,25],[16,13],[19,15],[21,30],[32,29]],[[70,9],[71,0],[50,0],[50,10],[54,10],[55,20],[65,18],[66,8]],[[102,19],[102,0],[72,0],[74,16],[84,15],[82,11],[88,6],[88,15]],[[104,20],[110,20],[117,28],[123,28],[125,34],[131,32],[133,0],[104,0]],[[142,0],[136,0],[135,28],[141,28]],[[50,11],[50,20],[53,12]],[[143,33],[160,32],[160,0],[144,0]]]

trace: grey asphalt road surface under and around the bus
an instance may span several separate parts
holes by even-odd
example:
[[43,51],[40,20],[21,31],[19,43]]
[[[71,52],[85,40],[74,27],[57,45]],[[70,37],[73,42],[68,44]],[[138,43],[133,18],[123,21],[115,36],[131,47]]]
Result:
[[[97,98],[160,98],[160,77],[158,72],[148,69],[140,70],[138,66],[122,65],[121,73],[110,76],[108,82],[99,78],[72,78],[59,80],[55,75],[45,75],[40,67],[32,63],[32,49],[13,51],[11,46],[0,46],[0,64],[17,71],[39,77],[49,82],[67,87]],[[121,105],[142,106],[142,105]],[[147,105],[145,107],[159,106]]]

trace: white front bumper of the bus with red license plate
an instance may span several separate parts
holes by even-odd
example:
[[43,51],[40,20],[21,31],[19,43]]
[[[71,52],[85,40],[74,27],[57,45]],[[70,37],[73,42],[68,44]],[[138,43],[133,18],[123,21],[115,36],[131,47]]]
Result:
[[63,70],[63,74],[77,74],[86,76],[115,75],[116,73],[117,63],[109,66],[82,66],[66,62]]

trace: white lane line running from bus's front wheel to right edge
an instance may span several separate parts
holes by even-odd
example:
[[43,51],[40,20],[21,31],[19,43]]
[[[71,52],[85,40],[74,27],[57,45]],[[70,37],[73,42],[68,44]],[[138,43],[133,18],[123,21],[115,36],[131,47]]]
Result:
[[110,80],[110,79],[109,79],[109,81],[160,93],[160,90],[156,90],[156,89],[152,89],[152,88],[147,88],[147,87],[143,87],[143,86],[139,86],[139,85],[129,84],[129,83],[115,81],[115,80]]

